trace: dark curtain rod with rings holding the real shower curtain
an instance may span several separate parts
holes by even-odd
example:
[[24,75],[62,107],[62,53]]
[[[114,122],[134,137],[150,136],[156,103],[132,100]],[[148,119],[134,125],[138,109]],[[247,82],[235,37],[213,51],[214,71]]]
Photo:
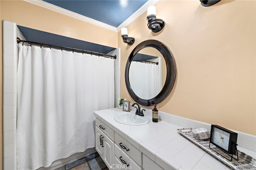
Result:
[[97,52],[93,52],[93,51],[87,51],[87,50],[81,50],[81,49],[74,49],[74,48],[70,48],[70,47],[62,47],[62,46],[58,46],[58,45],[51,45],[51,44],[45,44],[45,43],[37,43],[37,42],[32,42],[32,41],[24,41],[21,40],[19,37],[17,37],[17,43],[21,43],[22,45],[24,43],[29,43],[30,45],[34,44],[34,45],[40,45],[40,47],[42,48],[42,46],[44,47],[57,47],[55,49],[68,49],[68,51],[73,51],[74,52],[78,52],[78,53],[86,53],[86,54],[90,54],[90,55],[96,55],[96,56],[101,56],[101,57],[107,57],[107,58],[112,58],[112,59],[116,59],[116,55],[107,55],[107,54],[103,54],[103,53],[97,53]]

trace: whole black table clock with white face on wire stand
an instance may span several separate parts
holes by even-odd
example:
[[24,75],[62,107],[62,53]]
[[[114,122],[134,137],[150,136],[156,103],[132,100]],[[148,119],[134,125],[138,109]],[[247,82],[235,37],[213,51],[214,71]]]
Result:
[[[238,160],[238,152],[237,152],[237,133],[230,131],[224,127],[220,127],[218,125],[212,125],[211,134],[210,134],[210,144],[212,143],[219,149],[224,152],[231,154],[231,161],[233,155],[237,156]],[[210,147],[209,144],[209,147]]]

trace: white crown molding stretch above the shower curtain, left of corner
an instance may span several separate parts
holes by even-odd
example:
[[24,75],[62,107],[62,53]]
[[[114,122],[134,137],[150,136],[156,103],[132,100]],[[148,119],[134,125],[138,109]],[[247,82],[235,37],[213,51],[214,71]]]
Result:
[[50,4],[48,2],[44,2],[42,0],[24,0],[26,2],[30,2],[32,4],[35,4],[35,5],[38,5],[38,6],[41,6],[41,7],[44,7],[44,8],[47,8],[49,10],[52,10],[52,11],[55,11],[55,12],[59,12],[61,14],[64,14],[64,15],[67,15],[67,16],[70,16],[72,18],[76,18],[78,20],[82,20],[82,21],[86,21],[88,23],[92,23],[94,25],[98,25],[100,27],[103,27],[103,28],[106,28],[106,29],[110,29],[111,31],[115,31],[117,32],[117,28],[116,27],[113,27],[111,25],[108,25],[106,23],[103,23],[103,22],[100,22],[100,21],[97,21],[97,20],[93,20],[92,18],[88,18],[86,16],[82,16],[80,14],[77,14],[75,12],[72,12],[72,11],[69,11],[69,10],[66,10],[64,8],[61,8],[61,7],[58,7],[58,6],[55,6],[53,4]]

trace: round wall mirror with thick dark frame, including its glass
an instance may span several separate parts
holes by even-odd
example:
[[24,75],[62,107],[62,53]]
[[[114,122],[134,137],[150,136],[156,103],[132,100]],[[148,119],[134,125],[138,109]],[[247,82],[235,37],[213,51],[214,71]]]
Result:
[[132,99],[142,106],[162,102],[171,92],[176,63],[170,49],[157,40],[138,44],[125,68],[125,82]]

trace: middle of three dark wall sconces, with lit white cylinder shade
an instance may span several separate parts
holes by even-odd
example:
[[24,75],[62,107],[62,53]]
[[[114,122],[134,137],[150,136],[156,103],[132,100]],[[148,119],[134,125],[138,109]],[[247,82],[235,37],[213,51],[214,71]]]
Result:
[[156,7],[150,6],[148,7],[148,28],[152,30],[152,32],[157,33],[161,31],[165,25],[165,22],[161,19],[156,19]]

